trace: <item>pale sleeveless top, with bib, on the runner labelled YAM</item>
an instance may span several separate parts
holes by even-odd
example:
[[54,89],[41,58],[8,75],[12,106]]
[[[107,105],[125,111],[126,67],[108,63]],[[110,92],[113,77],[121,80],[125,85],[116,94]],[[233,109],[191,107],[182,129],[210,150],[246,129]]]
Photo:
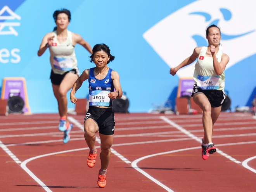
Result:
[[[195,64],[194,81],[202,90],[223,90],[225,86],[225,73],[217,75],[213,68],[213,57],[206,55],[208,47],[202,47]],[[216,54],[218,62],[221,61],[222,51]]]

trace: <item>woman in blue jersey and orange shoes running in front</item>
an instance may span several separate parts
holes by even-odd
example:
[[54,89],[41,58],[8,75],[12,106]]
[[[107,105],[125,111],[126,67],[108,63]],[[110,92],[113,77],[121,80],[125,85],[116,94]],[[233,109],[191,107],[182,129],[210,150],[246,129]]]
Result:
[[123,92],[119,82],[119,74],[110,69],[107,64],[114,60],[109,47],[105,44],[97,44],[92,49],[91,62],[96,67],[85,69],[76,80],[70,93],[72,103],[76,103],[74,96],[81,87],[83,81],[89,81],[89,110],[85,116],[85,141],[90,148],[87,165],[92,168],[97,157],[95,139],[99,131],[100,135],[100,162],[98,185],[106,186],[106,171],[111,156],[111,145],[114,138],[115,121],[112,111],[112,101],[122,97]]

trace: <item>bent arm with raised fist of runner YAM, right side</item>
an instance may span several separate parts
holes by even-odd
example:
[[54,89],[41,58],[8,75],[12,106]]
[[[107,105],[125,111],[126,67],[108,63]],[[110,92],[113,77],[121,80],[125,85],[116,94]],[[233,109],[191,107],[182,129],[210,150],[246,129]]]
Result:
[[216,54],[215,54],[215,47],[213,45],[210,46],[210,52],[213,55],[213,68],[214,71],[217,75],[220,75],[221,73],[223,73],[223,71],[225,70],[228,61],[229,61],[229,57],[227,54],[222,54],[221,55],[221,61],[218,62]]

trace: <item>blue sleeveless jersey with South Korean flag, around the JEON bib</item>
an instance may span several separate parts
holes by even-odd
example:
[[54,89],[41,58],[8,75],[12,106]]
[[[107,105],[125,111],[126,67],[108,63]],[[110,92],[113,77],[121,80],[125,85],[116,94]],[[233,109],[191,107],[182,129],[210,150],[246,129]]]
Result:
[[[94,71],[95,67],[90,69],[89,73],[89,90],[108,90],[110,92],[114,92],[114,85],[113,81],[111,78],[111,72],[113,69],[109,68],[109,71],[107,72],[107,76],[103,80],[98,80],[94,76]],[[112,107],[112,100],[110,99],[109,101],[109,107]]]

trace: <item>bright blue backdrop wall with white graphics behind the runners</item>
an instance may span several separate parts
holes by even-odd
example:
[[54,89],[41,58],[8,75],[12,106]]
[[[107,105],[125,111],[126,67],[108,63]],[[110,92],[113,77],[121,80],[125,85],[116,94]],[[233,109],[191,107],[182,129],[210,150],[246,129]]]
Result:
[[[202,6],[197,6],[197,3],[201,3]],[[47,50],[42,57],[38,57],[37,51],[43,36],[55,26],[52,17],[54,11],[66,8],[71,11],[71,22],[68,27],[70,31],[81,35],[92,47],[97,43],[106,43],[111,49],[111,54],[116,56],[109,67],[118,71],[120,75],[123,91],[130,100],[129,111],[149,111],[153,104],[163,104],[170,95],[176,94],[179,77],[190,76],[191,71],[193,72],[193,69],[188,68],[187,71],[190,73],[184,72],[176,76],[169,74],[170,67],[177,66],[192,53],[194,47],[200,45],[200,40],[195,38],[190,38],[184,43],[186,37],[179,32],[187,25],[184,19],[186,20],[191,12],[204,11],[210,15],[211,21],[205,22],[209,19],[205,13],[198,14],[198,17],[190,16],[195,21],[194,25],[187,25],[187,29],[182,31],[189,33],[189,37],[197,35],[205,38],[205,27],[210,22],[218,22],[216,20],[219,19],[221,32],[233,35],[231,39],[223,40],[223,51],[227,50],[230,58],[234,57],[232,52],[238,55],[237,49],[241,53],[236,59],[230,59],[231,64],[225,71],[225,89],[229,91],[233,109],[237,105],[249,105],[254,97],[252,95],[256,92],[256,48],[250,45],[256,42],[256,17],[246,5],[255,3],[245,0],[233,3],[235,5],[230,3],[230,7],[227,3],[221,3],[222,1],[215,3],[218,4],[216,7],[206,0],[2,0],[0,13],[1,10],[7,7],[8,9],[0,14],[0,80],[4,77],[26,78],[31,112],[57,112],[57,101],[49,79],[50,54]],[[241,4],[245,4],[244,9],[241,8]],[[212,6],[215,6],[216,10],[210,13]],[[247,16],[238,14],[239,7],[242,9],[241,12],[247,12]],[[220,15],[220,9],[228,10],[231,19],[227,19],[227,14]],[[12,15],[9,10],[16,15],[14,18],[6,19],[5,16]],[[174,19],[179,22],[172,23],[175,14],[184,14],[184,17],[177,15]],[[217,19],[214,20],[215,17]],[[166,24],[168,19],[170,22]],[[203,24],[197,26],[199,22]],[[249,28],[244,27],[244,22]],[[161,24],[168,30],[161,28]],[[234,25],[237,27],[235,31]],[[193,26],[201,33],[190,32]],[[161,31],[169,32],[163,35]],[[240,36],[234,37],[235,35]],[[173,41],[173,38],[179,43]],[[240,46],[239,42],[246,45]],[[182,49],[178,46],[182,46]],[[247,50],[246,54],[241,51],[242,49]],[[89,62],[90,54],[83,47],[77,45],[75,51],[80,72],[94,66]],[[177,56],[178,53],[182,53],[182,57]],[[76,96],[84,98],[87,94],[88,82],[84,82]],[[170,98],[174,104],[174,97]],[[69,102],[68,107],[74,106]]]

